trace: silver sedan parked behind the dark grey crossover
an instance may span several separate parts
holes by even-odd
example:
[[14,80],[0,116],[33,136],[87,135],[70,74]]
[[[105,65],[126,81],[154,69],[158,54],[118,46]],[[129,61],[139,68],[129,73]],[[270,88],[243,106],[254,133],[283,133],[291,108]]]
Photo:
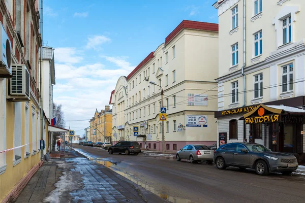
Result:
[[186,145],[176,153],[177,161],[181,159],[190,160],[191,163],[197,161],[213,162],[214,151],[205,145]]

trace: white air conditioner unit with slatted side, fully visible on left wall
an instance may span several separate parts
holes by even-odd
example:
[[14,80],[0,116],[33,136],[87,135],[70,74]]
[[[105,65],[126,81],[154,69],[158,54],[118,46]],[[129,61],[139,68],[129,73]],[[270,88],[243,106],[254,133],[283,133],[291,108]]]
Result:
[[24,64],[12,64],[13,77],[9,81],[9,101],[29,101],[29,72]]

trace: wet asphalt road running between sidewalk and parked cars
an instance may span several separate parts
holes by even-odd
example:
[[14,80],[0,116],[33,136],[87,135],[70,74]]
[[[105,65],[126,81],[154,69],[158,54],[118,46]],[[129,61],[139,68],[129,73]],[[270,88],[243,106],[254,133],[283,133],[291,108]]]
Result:
[[300,175],[258,176],[235,167],[218,170],[214,164],[73,147],[171,202],[305,202],[305,177]]

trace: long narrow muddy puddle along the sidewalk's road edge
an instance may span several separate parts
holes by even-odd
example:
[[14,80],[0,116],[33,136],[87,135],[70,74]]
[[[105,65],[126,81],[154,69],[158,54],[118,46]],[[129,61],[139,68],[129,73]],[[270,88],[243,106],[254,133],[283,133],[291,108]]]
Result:
[[149,186],[149,184],[143,183],[141,180],[135,178],[134,176],[127,174],[125,172],[122,172],[122,171],[118,170],[117,168],[112,167],[112,166],[115,166],[118,163],[120,163],[120,161],[111,162],[111,161],[103,161],[103,160],[99,160],[99,159],[91,159],[91,160],[110,168],[115,173],[127,178],[128,180],[130,180],[130,181],[134,182],[135,184],[141,186],[142,188],[160,196],[161,198],[168,200],[169,202],[173,202],[173,203],[192,203],[193,202],[188,199],[181,199],[181,198],[177,198],[177,197],[173,197],[173,196],[161,193],[158,190],[156,190],[155,188]]

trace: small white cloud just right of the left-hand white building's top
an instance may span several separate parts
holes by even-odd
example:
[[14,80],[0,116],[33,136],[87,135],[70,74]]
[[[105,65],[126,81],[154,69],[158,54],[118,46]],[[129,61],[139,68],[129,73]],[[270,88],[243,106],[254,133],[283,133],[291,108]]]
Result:
[[79,63],[83,60],[83,57],[78,56],[80,52],[74,47],[55,48],[54,58],[56,62],[60,63]]

